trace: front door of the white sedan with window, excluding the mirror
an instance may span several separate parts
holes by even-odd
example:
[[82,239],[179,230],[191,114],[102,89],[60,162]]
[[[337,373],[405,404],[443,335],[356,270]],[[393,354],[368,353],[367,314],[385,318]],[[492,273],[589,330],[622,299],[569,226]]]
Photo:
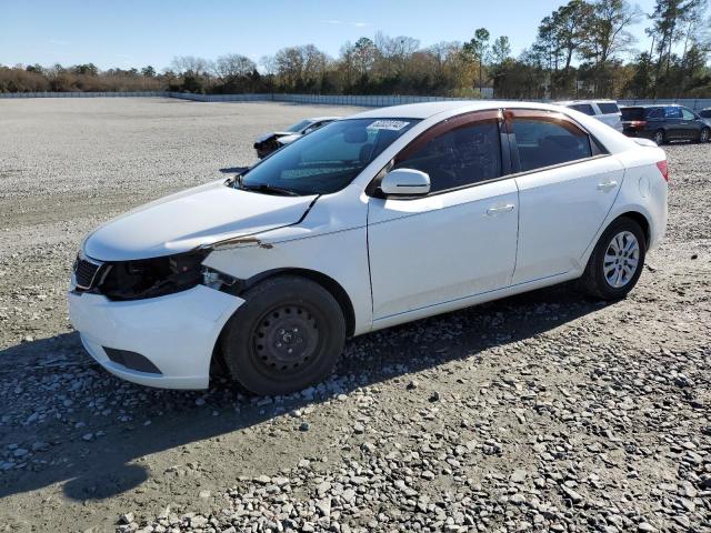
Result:
[[430,177],[419,198],[370,198],[373,319],[505,288],[515,263],[518,190],[503,179],[499,112],[434,127],[394,160]]

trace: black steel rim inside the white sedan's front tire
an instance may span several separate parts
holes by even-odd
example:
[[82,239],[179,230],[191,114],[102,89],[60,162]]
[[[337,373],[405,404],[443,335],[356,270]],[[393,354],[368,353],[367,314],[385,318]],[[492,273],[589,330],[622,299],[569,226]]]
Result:
[[252,330],[252,361],[268,378],[293,376],[314,361],[322,340],[319,321],[308,306],[280,304],[264,313]]

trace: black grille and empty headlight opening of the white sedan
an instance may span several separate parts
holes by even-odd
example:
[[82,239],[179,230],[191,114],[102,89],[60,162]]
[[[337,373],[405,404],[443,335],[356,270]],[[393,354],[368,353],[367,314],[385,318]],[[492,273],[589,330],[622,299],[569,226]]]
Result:
[[[78,258],[74,263],[77,289],[79,292],[102,294],[110,300],[139,300],[186,291],[202,283],[202,261],[208,253],[194,251],[104,263]],[[92,274],[91,281],[87,282],[89,274]]]

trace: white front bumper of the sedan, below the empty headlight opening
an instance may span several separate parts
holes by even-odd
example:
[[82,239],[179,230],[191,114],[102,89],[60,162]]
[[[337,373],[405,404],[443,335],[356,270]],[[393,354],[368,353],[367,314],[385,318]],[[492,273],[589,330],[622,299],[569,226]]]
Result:
[[[141,385],[207,389],[220,332],[244,300],[197,285],[146,300],[117,302],[70,290],[69,315],[87,351],[101,366]],[[119,364],[104,348],[136,352],[160,373]]]

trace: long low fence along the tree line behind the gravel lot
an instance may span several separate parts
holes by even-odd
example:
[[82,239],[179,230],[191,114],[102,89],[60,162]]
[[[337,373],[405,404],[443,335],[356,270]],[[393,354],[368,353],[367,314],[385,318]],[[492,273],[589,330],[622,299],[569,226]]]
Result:
[[[352,105],[359,108],[381,108],[403,103],[437,102],[443,100],[465,100],[447,97],[404,97],[367,94],[192,94],[189,92],[140,91],[140,92],[3,92],[1,98],[178,98],[197,102],[284,102],[320,105]],[[659,100],[619,100],[621,105],[641,105],[651,103],[679,103],[699,111],[711,108],[711,98],[699,99],[659,99]]]

